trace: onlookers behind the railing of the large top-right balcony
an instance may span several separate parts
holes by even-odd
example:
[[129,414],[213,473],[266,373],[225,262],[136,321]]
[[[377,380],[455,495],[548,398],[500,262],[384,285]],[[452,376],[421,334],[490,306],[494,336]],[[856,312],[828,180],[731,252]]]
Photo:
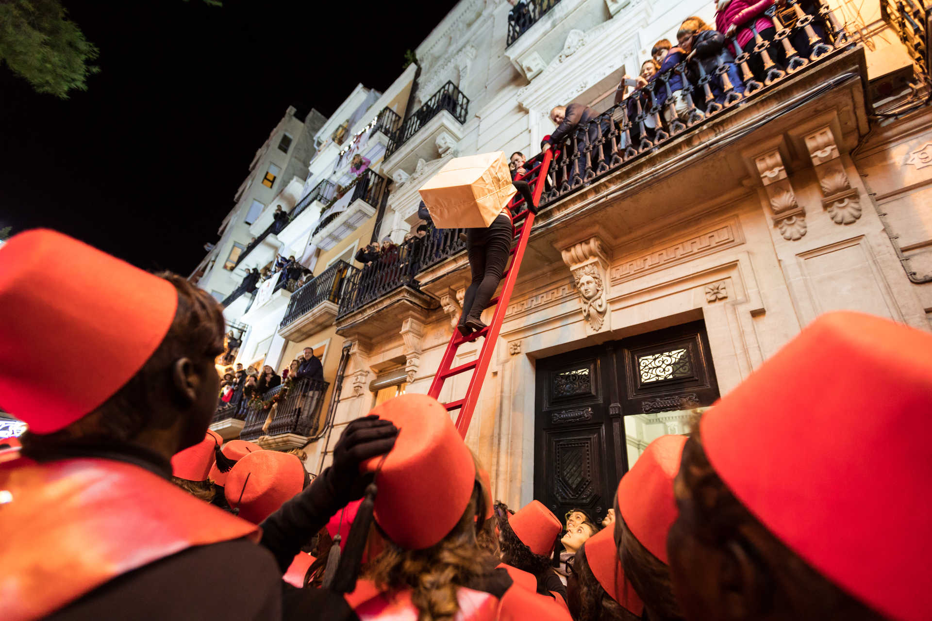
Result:
[[[573,158],[572,169],[558,171],[565,178],[557,182],[582,180],[586,166],[595,170],[616,155],[650,148],[827,53],[831,29],[818,0],[789,4],[720,0],[714,24],[691,16],[680,24],[675,45],[667,39],[654,44],[637,76],[624,75],[609,114],[583,103],[556,106],[550,118],[557,127],[541,148],[566,142],[567,162],[574,150],[590,160],[587,165],[586,157]],[[770,15],[774,5],[777,13]],[[617,141],[607,140],[610,135]]]

